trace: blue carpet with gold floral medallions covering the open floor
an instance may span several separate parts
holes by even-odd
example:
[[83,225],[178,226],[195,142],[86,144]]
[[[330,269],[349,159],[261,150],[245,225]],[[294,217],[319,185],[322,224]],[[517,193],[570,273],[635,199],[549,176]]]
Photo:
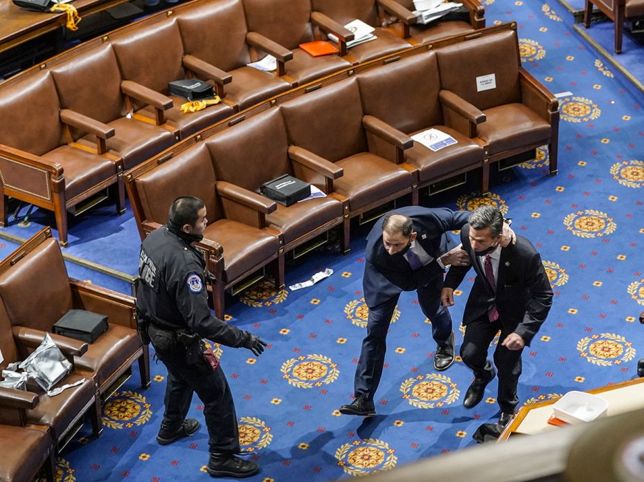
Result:
[[[488,25],[519,24],[524,66],[554,93],[570,92],[561,98],[560,174],[548,176],[548,153],[539,150],[536,161],[495,176],[484,197],[468,188],[423,202],[453,209],[498,205],[542,253],[555,300],[524,351],[522,402],[633,378],[644,346],[644,327],[636,323],[644,309],[644,98],[582,43],[556,7],[537,0],[483,3]],[[122,220],[131,224],[131,214]],[[136,259],[138,249],[136,232],[124,232],[132,252],[120,263]],[[269,342],[258,359],[219,347],[242,446],[262,465],[252,481],[328,481],[390,469],[473,445],[476,427],[497,416],[496,381],[487,399],[467,410],[470,371],[460,361],[433,371],[431,329],[409,293],[400,298],[388,335],[377,416],[339,414],[350,400],[365,334],[364,234],[355,236],[347,257],[326,250],[298,262],[287,284],[323,268],[332,268],[332,277],[293,292],[259,286],[227,310],[231,323]],[[466,279],[456,297],[456,321],[471,284]],[[457,335],[457,344],[461,340]],[[164,375],[163,366],[152,363],[149,390],[138,387],[136,376],[129,380],[105,409],[102,438],[79,438],[63,453],[60,481],[208,480],[204,427],[170,447],[154,441]],[[200,411],[195,397],[191,415],[203,420]]]

